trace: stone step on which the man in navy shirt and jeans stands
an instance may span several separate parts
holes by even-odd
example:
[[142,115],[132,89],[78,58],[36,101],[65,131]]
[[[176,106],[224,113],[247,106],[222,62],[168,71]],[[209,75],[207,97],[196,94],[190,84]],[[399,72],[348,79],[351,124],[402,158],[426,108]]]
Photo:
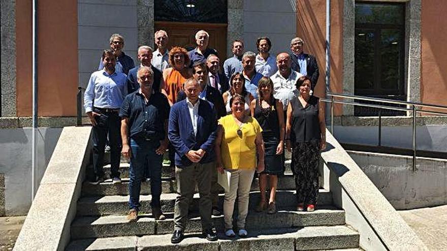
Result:
[[[149,214],[140,214],[135,223],[129,223],[126,216],[80,217],[71,227],[72,239],[102,238],[127,235],[169,234],[174,229],[174,213],[166,213],[167,220],[156,221]],[[198,213],[191,215],[185,232],[202,231]],[[250,211],[246,219],[247,230],[281,229],[309,226],[344,225],[344,211],[337,209],[320,209],[313,212],[280,210],[275,214]],[[223,215],[213,216],[214,226],[223,232]],[[236,222],[234,223],[236,224]],[[236,225],[235,225],[236,226]]]

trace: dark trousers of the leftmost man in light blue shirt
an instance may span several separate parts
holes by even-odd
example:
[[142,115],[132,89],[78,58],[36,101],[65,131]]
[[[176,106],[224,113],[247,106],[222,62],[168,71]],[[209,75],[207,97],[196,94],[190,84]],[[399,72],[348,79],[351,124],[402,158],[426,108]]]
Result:
[[104,175],[104,150],[107,134],[110,141],[111,177],[119,177],[119,162],[121,155],[121,119],[118,113],[104,113],[95,117],[97,125],[93,126],[93,170],[98,177]]

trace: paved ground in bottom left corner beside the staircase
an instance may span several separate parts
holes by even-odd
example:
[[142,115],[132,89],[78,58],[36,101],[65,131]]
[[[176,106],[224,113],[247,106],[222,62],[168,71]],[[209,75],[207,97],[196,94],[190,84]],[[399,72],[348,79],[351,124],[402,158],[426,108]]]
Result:
[[25,216],[0,218],[0,250],[12,250]]

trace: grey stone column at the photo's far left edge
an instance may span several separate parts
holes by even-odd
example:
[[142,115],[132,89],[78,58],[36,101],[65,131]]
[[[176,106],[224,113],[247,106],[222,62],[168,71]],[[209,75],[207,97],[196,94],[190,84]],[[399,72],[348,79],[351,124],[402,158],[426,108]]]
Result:
[[16,117],[16,2],[2,0],[2,114]]

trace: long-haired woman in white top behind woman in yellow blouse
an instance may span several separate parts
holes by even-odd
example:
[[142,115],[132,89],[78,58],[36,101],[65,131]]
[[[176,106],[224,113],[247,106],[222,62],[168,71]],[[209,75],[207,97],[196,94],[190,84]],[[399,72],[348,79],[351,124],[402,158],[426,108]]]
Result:
[[245,79],[242,73],[235,73],[230,78],[230,90],[223,93],[223,103],[225,103],[225,107],[227,109],[227,114],[231,114],[231,105],[230,99],[235,94],[239,94],[244,98],[245,105],[244,111],[246,115],[250,114],[250,103],[253,100],[253,96],[250,92],[245,89]]

